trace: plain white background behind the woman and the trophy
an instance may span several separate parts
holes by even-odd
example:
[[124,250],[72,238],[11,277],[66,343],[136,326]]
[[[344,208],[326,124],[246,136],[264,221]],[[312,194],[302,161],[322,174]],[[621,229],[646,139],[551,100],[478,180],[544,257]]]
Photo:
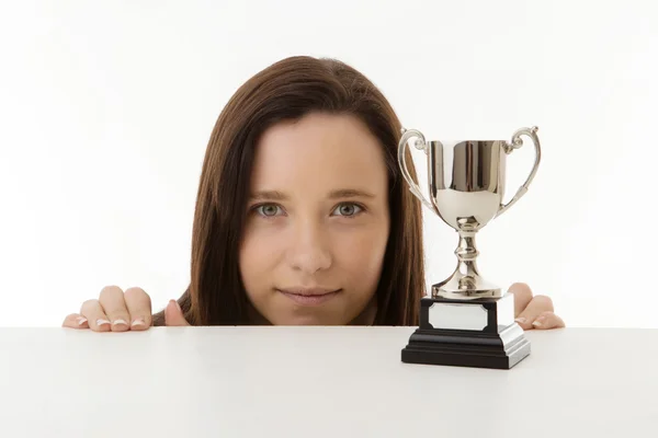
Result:
[[[549,295],[570,326],[658,327],[648,0],[0,8],[0,325],[59,325],[111,284],[144,287],[155,310],[179,297],[219,112],[257,71],[311,55],[360,69],[429,139],[537,125],[540,171],[479,234],[483,274]],[[529,141],[509,157],[508,198],[532,161]],[[457,240],[424,220],[429,286]]]

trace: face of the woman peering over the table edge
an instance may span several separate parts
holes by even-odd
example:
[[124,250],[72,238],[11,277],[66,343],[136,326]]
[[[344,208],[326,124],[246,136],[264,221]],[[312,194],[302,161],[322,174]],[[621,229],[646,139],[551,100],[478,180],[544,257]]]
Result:
[[358,118],[311,114],[257,148],[240,247],[254,309],[275,325],[371,324],[389,231],[382,147]]

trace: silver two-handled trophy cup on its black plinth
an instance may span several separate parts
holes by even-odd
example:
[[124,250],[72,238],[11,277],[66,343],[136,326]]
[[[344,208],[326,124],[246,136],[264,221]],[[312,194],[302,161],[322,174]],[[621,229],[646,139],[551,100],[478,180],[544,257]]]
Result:
[[[445,280],[432,285],[420,302],[419,327],[401,351],[407,364],[511,369],[527,355],[530,342],[514,321],[514,297],[489,283],[477,267],[475,235],[491,219],[507,211],[526,192],[541,160],[537,128],[517,130],[511,141],[426,141],[422,132],[402,129],[398,162],[410,192],[455,229],[457,266]],[[527,136],[535,162],[521,188],[502,204],[506,158]],[[428,160],[428,200],[411,178],[406,163],[407,143],[424,151]]]

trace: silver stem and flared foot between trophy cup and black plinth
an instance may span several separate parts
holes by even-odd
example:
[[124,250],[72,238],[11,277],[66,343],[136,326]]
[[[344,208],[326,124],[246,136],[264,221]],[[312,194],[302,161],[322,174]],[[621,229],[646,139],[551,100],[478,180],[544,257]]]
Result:
[[502,297],[500,288],[486,281],[479,274],[479,251],[475,245],[477,229],[464,223],[457,233],[460,243],[454,252],[457,256],[457,267],[446,280],[432,286],[432,296],[455,299]]

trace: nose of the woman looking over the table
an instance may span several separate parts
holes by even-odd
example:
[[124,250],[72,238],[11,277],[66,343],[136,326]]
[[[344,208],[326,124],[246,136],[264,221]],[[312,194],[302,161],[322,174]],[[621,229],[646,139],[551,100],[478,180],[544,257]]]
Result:
[[307,275],[328,269],[332,263],[328,240],[321,224],[314,221],[295,224],[287,251],[291,267]]

